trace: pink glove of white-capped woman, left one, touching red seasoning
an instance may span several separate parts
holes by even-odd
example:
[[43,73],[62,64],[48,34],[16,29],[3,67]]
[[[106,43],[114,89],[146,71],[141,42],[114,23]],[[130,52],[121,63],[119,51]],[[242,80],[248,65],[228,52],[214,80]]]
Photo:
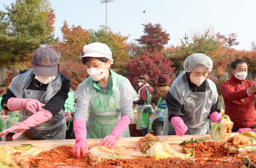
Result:
[[89,149],[88,142],[86,141],[86,124],[82,119],[77,119],[74,121],[74,132],[76,137],[76,145],[71,149],[72,155],[80,159],[81,153],[82,157],[86,157],[86,152]]

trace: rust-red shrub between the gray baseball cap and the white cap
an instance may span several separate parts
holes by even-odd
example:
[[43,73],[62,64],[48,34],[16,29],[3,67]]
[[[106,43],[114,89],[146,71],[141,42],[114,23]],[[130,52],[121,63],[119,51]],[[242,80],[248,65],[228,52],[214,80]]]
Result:
[[89,76],[85,65],[82,62],[68,61],[65,66],[63,75],[70,79],[70,88],[76,90],[77,86]]

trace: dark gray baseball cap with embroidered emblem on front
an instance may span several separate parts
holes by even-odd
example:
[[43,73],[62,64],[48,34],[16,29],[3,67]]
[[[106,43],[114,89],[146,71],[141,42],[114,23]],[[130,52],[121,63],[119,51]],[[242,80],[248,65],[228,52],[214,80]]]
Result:
[[40,47],[32,57],[33,74],[37,76],[54,76],[58,71],[59,57],[51,48]]

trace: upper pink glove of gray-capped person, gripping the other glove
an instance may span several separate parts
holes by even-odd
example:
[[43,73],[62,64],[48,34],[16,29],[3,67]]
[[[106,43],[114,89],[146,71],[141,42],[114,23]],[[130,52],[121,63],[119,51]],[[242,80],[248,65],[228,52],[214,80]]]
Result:
[[31,113],[35,114],[37,111],[42,110],[45,104],[35,99],[22,99],[12,97],[7,102],[7,107],[10,111],[19,111],[27,108]]

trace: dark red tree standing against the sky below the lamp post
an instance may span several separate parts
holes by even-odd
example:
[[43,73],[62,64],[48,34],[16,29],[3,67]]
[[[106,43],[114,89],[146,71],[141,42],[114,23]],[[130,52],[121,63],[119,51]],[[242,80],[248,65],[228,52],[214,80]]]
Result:
[[163,30],[160,23],[156,23],[152,25],[152,23],[142,24],[144,26],[143,33],[145,35],[140,36],[139,39],[134,39],[138,41],[139,44],[145,45],[146,51],[153,52],[156,49],[160,52],[165,44],[168,44],[168,40],[170,40],[170,34],[167,33],[166,30]]

